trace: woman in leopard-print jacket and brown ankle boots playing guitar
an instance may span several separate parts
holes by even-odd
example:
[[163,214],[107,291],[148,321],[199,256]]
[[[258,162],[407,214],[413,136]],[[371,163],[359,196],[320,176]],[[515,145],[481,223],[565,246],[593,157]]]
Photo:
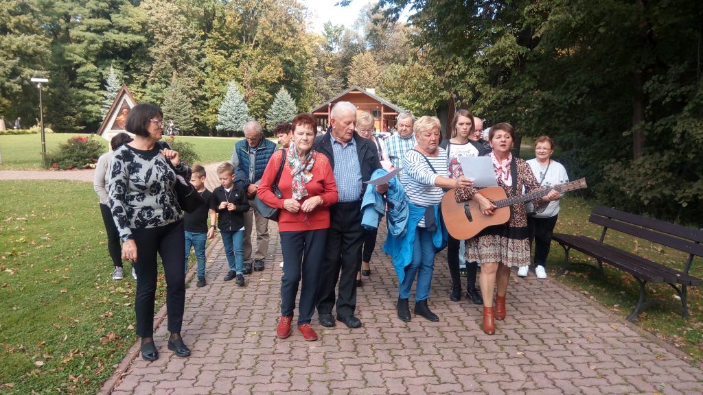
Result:
[[[498,186],[505,190],[508,197],[522,194],[523,187],[527,193],[540,190],[538,181],[529,165],[520,158],[510,154],[515,134],[508,123],[499,123],[491,127],[489,143],[493,152],[489,154],[494,163]],[[541,199],[532,203],[541,211],[546,207],[545,202],[556,200],[560,193],[551,190]],[[496,205],[480,193],[476,188],[461,188],[456,190],[456,201],[475,200],[479,203],[484,215],[494,214]],[[466,259],[481,263],[479,283],[484,300],[483,330],[489,335],[496,332],[494,320],[505,319],[505,294],[508,290],[511,266],[527,266],[530,261],[529,241],[527,238],[527,216],[524,204],[513,205],[510,209],[510,221],[507,224],[489,226],[475,238],[466,241]],[[498,284],[496,306],[493,304],[493,293]]]

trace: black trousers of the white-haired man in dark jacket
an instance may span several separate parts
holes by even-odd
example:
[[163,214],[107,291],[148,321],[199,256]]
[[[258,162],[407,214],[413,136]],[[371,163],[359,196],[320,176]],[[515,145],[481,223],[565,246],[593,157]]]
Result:
[[[353,316],[356,310],[356,272],[361,270],[361,201],[341,202],[330,207],[330,231],[325,263],[318,286],[318,314],[332,313],[335,286],[339,280],[337,317]],[[284,265],[285,266],[285,265]]]

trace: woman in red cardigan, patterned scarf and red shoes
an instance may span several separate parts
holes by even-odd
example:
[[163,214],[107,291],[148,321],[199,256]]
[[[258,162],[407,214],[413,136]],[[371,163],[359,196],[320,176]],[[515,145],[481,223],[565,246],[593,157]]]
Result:
[[[317,131],[315,118],[298,114],[293,118],[292,129],[288,148],[276,151],[266,165],[257,195],[267,205],[280,208],[278,232],[285,265],[276,335],[281,339],[290,336],[295,296],[302,279],[298,330],[304,339],[311,341],[317,340],[310,319],[315,311],[319,273],[325,259],[329,207],[337,202],[337,185],[327,157],[312,149]],[[271,191],[271,185],[282,161],[278,188],[283,197],[279,199]]]

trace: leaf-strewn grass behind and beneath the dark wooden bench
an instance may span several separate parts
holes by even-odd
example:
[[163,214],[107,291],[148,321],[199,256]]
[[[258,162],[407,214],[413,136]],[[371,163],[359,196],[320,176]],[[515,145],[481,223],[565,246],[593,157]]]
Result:
[[[580,197],[562,198],[562,207],[555,233],[600,238],[602,227],[588,222],[592,205],[593,202]],[[635,252],[652,261],[666,264],[678,270],[683,269],[685,259],[688,258],[688,254],[612,230],[608,231],[605,241],[623,250]],[[574,250],[569,253],[569,259],[572,262],[598,265],[595,259]],[[551,278],[555,278],[556,271],[563,262],[564,250],[556,242],[553,242],[548,259],[548,271]],[[606,306],[614,314],[625,318],[637,304],[639,297],[637,281],[630,274],[611,268],[607,264],[603,264],[603,268],[605,276],[601,276],[600,273],[586,266],[572,266],[569,273],[557,278],[557,280],[574,287],[587,297]],[[703,259],[693,261],[690,273],[698,278],[703,277]],[[530,276],[533,275],[530,273]],[[696,361],[703,361],[702,294],[703,290],[700,287],[688,287],[690,318],[686,320],[681,317],[681,301],[675,298],[676,291],[671,286],[647,284],[647,297],[661,300],[662,303],[650,306],[641,313],[638,325],[683,349]]]

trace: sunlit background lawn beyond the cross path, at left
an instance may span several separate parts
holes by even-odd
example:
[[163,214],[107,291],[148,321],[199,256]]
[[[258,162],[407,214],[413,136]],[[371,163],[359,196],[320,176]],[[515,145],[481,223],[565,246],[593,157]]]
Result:
[[[46,152],[58,149],[60,143],[65,143],[73,136],[93,136],[91,134],[46,134]],[[105,143],[108,150],[108,141],[96,136],[98,141]],[[224,162],[232,156],[234,144],[240,138],[221,137],[195,137],[179,136],[179,140],[195,145],[195,150],[200,156],[202,164]],[[167,138],[164,139],[168,141]],[[41,135],[27,134],[22,136],[0,136],[0,154],[2,164],[0,170],[37,170],[41,169]]]

